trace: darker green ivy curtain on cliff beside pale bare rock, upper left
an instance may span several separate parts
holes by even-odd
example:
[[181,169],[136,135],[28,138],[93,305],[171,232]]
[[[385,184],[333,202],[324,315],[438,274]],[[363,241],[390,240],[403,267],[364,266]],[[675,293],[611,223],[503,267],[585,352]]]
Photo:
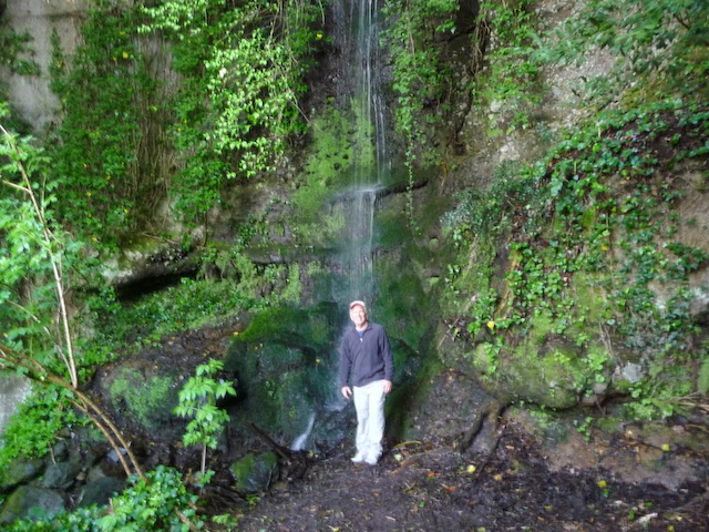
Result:
[[97,244],[145,227],[166,193],[169,112],[150,43],[136,38],[141,20],[136,8],[100,0],[71,57],[52,35],[51,86],[63,112],[50,151],[60,215]]

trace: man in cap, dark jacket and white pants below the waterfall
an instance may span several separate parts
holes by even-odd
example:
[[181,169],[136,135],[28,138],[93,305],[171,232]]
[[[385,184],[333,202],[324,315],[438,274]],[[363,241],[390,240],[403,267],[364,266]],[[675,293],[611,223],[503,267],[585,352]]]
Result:
[[393,358],[384,328],[368,320],[363,301],[350,303],[350,319],[354,327],[342,338],[340,392],[345,399],[354,398],[357,410],[357,454],[352,461],[374,466],[381,457],[384,398],[392,387]]

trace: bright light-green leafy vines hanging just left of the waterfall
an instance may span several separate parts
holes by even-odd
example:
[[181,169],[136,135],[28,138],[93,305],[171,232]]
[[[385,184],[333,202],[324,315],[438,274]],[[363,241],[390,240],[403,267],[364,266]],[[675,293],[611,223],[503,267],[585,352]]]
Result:
[[141,32],[173,42],[182,75],[171,127],[182,164],[177,207],[195,219],[219,201],[225,180],[273,171],[304,131],[298,98],[308,54],[322,38],[319,2],[168,0],[144,8]]

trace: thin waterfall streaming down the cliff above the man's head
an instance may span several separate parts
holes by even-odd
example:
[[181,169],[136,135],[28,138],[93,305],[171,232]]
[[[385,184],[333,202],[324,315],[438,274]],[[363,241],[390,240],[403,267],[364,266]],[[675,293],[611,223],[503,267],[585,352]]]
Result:
[[380,12],[378,0],[340,0],[335,17],[346,21],[335,39],[343,51],[351,81],[354,116],[352,187],[342,202],[347,229],[342,268],[342,299],[371,301],[373,295],[374,207],[377,191],[390,171],[384,135],[386,110],[381,91]]

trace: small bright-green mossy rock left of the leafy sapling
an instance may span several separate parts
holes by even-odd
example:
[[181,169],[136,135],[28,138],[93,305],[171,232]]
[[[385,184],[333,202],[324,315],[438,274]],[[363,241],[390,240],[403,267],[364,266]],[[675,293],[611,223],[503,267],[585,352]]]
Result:
[[111,402],[150,430],[168,422],[177,406],[179,387],[171,375],[144,375],[135,368],[122,368],[109,388]]

